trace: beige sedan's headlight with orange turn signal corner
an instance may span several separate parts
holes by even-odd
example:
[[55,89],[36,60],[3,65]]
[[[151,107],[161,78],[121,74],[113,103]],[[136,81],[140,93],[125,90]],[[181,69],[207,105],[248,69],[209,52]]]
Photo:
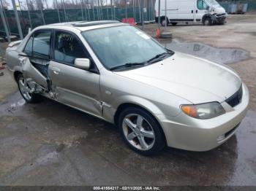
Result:
[[225,114],[225,109],[218,102],[197,105],[181,105],[181,110],[197,119],[206,120]]

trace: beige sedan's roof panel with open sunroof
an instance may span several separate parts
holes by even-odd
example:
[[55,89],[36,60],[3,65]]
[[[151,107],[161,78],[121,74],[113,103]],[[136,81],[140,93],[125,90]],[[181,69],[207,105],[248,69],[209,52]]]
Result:
[[99,20],[99,21],[75,21],[67,23],[54,23],[45,26],[39,26],[38,29],[42,28],[56,28],[56,29],[67,29],[67,30],[78,30],[78,31],[89,31],[97,28],[106,28],[112,26],[127,26],[126,23],[121,23],[117,20]]

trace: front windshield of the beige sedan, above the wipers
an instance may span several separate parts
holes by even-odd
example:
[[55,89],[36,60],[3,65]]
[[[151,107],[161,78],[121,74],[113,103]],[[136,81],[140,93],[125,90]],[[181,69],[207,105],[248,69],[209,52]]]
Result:
[[144,63],[167,53],[162,45],[132,26],[99,28],[83,31],[82,35],[107,69],[127,63]]

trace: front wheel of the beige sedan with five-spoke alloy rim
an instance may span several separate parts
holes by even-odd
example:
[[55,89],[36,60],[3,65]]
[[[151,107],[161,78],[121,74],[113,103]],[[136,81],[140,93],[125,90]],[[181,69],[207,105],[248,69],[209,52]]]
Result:
[[165,135],[155,118],[143,109],[124,109],[118,128],[126,144],[141,155],[155,155],[165,147]]

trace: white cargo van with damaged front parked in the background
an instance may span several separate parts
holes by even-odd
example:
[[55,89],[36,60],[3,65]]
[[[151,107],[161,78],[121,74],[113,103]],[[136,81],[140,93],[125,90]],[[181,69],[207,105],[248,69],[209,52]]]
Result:
[[[177,23],[225,24],[227,13],[215,0],[166,0],[167,24]],[[158,22],[158,4],[155,4],[156,22]],[[160,23],[165,26],[165,0],[160,0]]]

